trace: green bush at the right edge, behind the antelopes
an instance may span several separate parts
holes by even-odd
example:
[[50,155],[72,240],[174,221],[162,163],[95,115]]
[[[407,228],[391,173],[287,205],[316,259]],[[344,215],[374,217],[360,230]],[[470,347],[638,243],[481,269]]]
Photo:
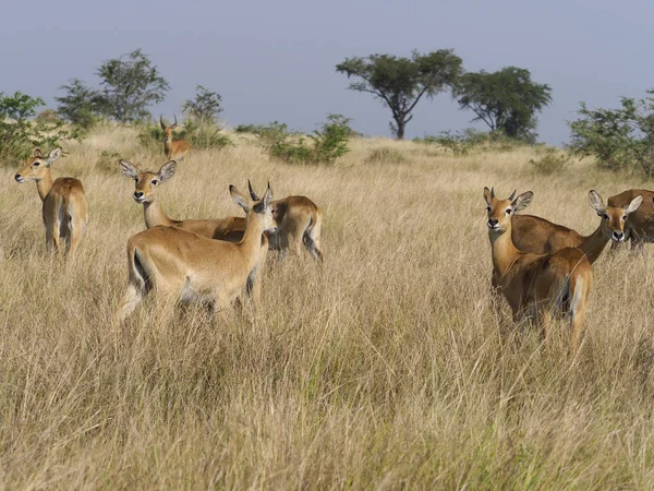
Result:
[[654,175],[654,98],[621,97],[620,105],[615,110],[591,110],[580,103],[580,118],[568,122],[572,132],[570,148],[594,156],[603,168],[640,167]]

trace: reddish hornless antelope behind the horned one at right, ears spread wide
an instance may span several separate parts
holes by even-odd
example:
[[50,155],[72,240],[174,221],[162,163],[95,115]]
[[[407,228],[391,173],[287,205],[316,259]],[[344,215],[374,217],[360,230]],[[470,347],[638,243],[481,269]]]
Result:
[[[597,191],[589,191],[589,202],[601,217],[600,225],[590,236],[582,236],[571,228],[553,224],[533,215],[513,215],[511,218],[511,239],[518,250],[546,254],[560,251],[564,248],[579,248],[586,259],[593,264],[606,244],[610,241],[614,246],[625,242],[627,238],[626,224],[630,217],[640,209],[642,195],[634,196],[622,206],[606,206]],[[493,272],[492,286],[497,287],[497,273]]]

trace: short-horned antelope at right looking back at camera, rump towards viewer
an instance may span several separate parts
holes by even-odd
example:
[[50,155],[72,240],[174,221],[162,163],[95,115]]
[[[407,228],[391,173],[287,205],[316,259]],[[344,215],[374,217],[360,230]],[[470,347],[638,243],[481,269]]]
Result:
[[564,248],[546,254],[518,250],[511,238],[511,217],[531,203],[533,193],[529,191],[513,200],[514,195],[516,192],[507,200],[498,200],[494,190],[484,188],[488,238],[499,290],[509,302],[514,321],[526,316],[534,319],[542,328],[546,348],[553,312],[564,309],[569,313],[570,351],[576,354],[593,283],[593,267],[579,248]]

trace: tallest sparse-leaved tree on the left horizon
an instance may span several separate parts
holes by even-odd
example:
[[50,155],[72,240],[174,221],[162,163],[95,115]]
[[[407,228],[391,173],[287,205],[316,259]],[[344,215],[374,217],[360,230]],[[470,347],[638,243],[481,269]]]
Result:
[[105,61],[96,74],[104,86],[102,112],[120,122],[149,118],[147,107],[165,99],[170,85],[141,49]]

